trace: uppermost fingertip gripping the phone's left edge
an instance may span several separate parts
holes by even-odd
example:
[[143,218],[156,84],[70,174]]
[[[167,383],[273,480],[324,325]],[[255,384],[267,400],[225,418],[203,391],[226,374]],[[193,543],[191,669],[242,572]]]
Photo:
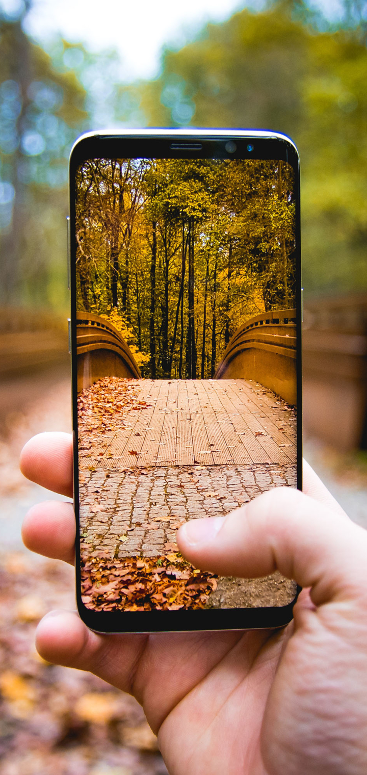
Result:
[[23,446],[20,470],[47,490],[73,497],[73,438],[70,433],[46,432]]

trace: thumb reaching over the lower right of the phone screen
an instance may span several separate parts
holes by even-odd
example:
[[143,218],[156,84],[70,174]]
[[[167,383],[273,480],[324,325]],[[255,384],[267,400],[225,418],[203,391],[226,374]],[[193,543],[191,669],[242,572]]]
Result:
[[367,533],[291,487],[276,487],[226,517],[180,528],[180,551],[202,570],[253,578],[279,570],[311,587],[315,605],[365,596]]

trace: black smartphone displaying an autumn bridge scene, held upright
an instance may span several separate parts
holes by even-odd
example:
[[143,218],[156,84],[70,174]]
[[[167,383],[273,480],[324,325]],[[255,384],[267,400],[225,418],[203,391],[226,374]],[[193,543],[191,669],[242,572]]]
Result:
[[279,573],[180,555],[188,519],[301,487],[299,158],[278,133],[126,130],[70,155],[77,606],[98,632],[262,628]]

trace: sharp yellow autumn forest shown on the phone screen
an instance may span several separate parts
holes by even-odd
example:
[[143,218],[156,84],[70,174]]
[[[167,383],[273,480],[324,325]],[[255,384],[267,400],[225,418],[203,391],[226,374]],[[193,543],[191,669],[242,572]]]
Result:
[[239,325],[294,306],[285,162],[87,160],[76,189],[77,309],[115,325],[144,377],[213,377]]

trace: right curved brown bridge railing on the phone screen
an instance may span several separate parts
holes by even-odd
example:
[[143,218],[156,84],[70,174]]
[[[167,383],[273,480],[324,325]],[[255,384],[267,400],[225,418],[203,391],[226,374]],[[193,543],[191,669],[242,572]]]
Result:
[[264,312],[229,340],[214,379],[254,380],[297,405],[296,310]]

